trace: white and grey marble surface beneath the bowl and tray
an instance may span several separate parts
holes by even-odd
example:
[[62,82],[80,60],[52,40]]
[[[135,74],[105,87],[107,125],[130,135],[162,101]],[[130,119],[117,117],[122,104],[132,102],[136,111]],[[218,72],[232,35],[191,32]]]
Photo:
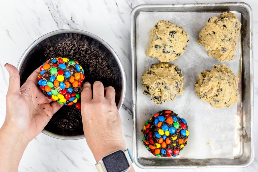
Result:
[[[239,0],[227,0],[238,2]],[[258,113],[258,2],[243,0],[253,9],[254,50],[254,115]],[[140,4],[183,4],[224,2],[221,0],[91,0],[91,1],[1,1],[0,6],[0,126],[5,118],[5,96],[9,75],[5,63],[17,66],[26,48],[40,36],[58,29],[81,29],[105,40],[118,54],[126,73],[126,95],[120,116],[123,136],[132,151],[132,89],[130,21],[132,9]],[[240,2],[240,1],[239,1]],[[258,118],[254,117],[254,142],[258,148]],[[201,152],[200,152],[201,153]],[[33,139],[26,148],[18,171],[96,171],[95,160],[85,139],[59,140],[43,133]],[[134,165],[136,171],[144,170]],[[1,169],[1,167],[0,167]],[[258,150],[255,159],[245,168],[174,169],[180,171],[258,171]],[[174,171],[173,169],[169,171]]]

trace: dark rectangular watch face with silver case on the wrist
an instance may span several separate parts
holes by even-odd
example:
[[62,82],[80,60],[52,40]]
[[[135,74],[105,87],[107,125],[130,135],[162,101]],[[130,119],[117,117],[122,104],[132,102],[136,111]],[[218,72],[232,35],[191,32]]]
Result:
[[102,158],[102,163],[107,172],[126,171],[130,168],[130,164],[125,156],[124,151],[116,151]]

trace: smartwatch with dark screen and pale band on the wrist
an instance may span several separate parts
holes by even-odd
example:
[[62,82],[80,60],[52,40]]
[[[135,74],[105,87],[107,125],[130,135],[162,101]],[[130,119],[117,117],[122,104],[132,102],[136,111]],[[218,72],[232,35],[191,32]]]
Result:
[[123,172],[130,169],[130,164],[134,162],[129,149],[118,150],[103,158],[95,166],[98,172]]

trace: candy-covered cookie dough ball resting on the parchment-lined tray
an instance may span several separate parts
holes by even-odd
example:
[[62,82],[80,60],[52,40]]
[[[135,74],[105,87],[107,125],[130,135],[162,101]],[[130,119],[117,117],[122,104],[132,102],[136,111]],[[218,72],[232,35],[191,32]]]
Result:
[[156,113],[143,126],[143,144],[157,157],[176,157],[189,136],[185,119],[170,110]]

